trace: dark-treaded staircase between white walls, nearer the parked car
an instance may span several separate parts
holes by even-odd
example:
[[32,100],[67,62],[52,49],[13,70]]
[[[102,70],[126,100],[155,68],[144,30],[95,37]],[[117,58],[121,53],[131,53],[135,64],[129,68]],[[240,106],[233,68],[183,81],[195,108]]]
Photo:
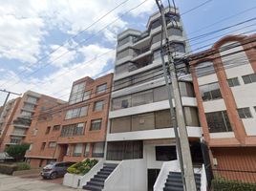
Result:
[[104,188],[104,182],[109,177],[109,175],[117,167],[115,163],[104,163],[103,168],[100,169],[93,179],[88,181],[86,185],[83,186],[85,190],[101,191]]

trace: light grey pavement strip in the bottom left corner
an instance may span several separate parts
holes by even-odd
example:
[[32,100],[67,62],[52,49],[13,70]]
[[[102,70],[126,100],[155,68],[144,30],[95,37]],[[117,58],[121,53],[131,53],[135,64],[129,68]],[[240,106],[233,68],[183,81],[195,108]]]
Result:
[[[51,180],[50,180],[51,181]],[[0,174],[1,191],[81,191],[37,178],[21,178]]]

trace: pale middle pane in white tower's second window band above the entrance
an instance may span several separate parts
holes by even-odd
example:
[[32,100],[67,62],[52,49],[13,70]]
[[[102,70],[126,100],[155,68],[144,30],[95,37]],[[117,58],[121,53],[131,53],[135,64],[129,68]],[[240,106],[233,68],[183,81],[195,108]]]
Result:
[[146,91],[132,95],[132,105],[138,106],[153,102],[153,91]]

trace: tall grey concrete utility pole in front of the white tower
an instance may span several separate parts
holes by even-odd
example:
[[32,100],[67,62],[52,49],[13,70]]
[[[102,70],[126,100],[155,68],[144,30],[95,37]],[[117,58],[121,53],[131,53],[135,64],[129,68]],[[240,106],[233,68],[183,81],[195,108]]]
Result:
[[[156,3],[160,10],[161,21],[162,21],[161,25],[162,25],[163,32],[165,33],[165,43],[166,43],[167,55],[168,55],[168,68],[169,68],[171,82],[172,82],[173,96],[175,99],[175,108],[176,108],[176,119],[177,119],[179,133],[180,133],[181,156],[182,156],[184,181],[185,181],[184,187],[186,191],[196,191],[197,187],[196,187],[196,181],[194,177],[194,169],[192,165],[189,141],[187,137],[185,118],[184,118],[183,108],[181,103],[181,93],[180,93],[180,88],[178,84],[176,68],[174,65],[174,59],[172,57],[171,47],[168,39],[168,32],[167,32],[166,21],[165,21],[165,11],[160,0],[156,0]],[[165,67],[165,64],[164,64],[164,67]]]

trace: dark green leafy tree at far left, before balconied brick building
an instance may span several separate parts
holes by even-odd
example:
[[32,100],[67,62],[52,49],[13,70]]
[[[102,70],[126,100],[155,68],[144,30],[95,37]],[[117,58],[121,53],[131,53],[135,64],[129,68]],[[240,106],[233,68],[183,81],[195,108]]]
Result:
[[15,160],[21,160],[24,158],[25,153],[29,148],[30,144],[28,143],[16,144],[9,146],[6,149],[6,152],[11,158]]

